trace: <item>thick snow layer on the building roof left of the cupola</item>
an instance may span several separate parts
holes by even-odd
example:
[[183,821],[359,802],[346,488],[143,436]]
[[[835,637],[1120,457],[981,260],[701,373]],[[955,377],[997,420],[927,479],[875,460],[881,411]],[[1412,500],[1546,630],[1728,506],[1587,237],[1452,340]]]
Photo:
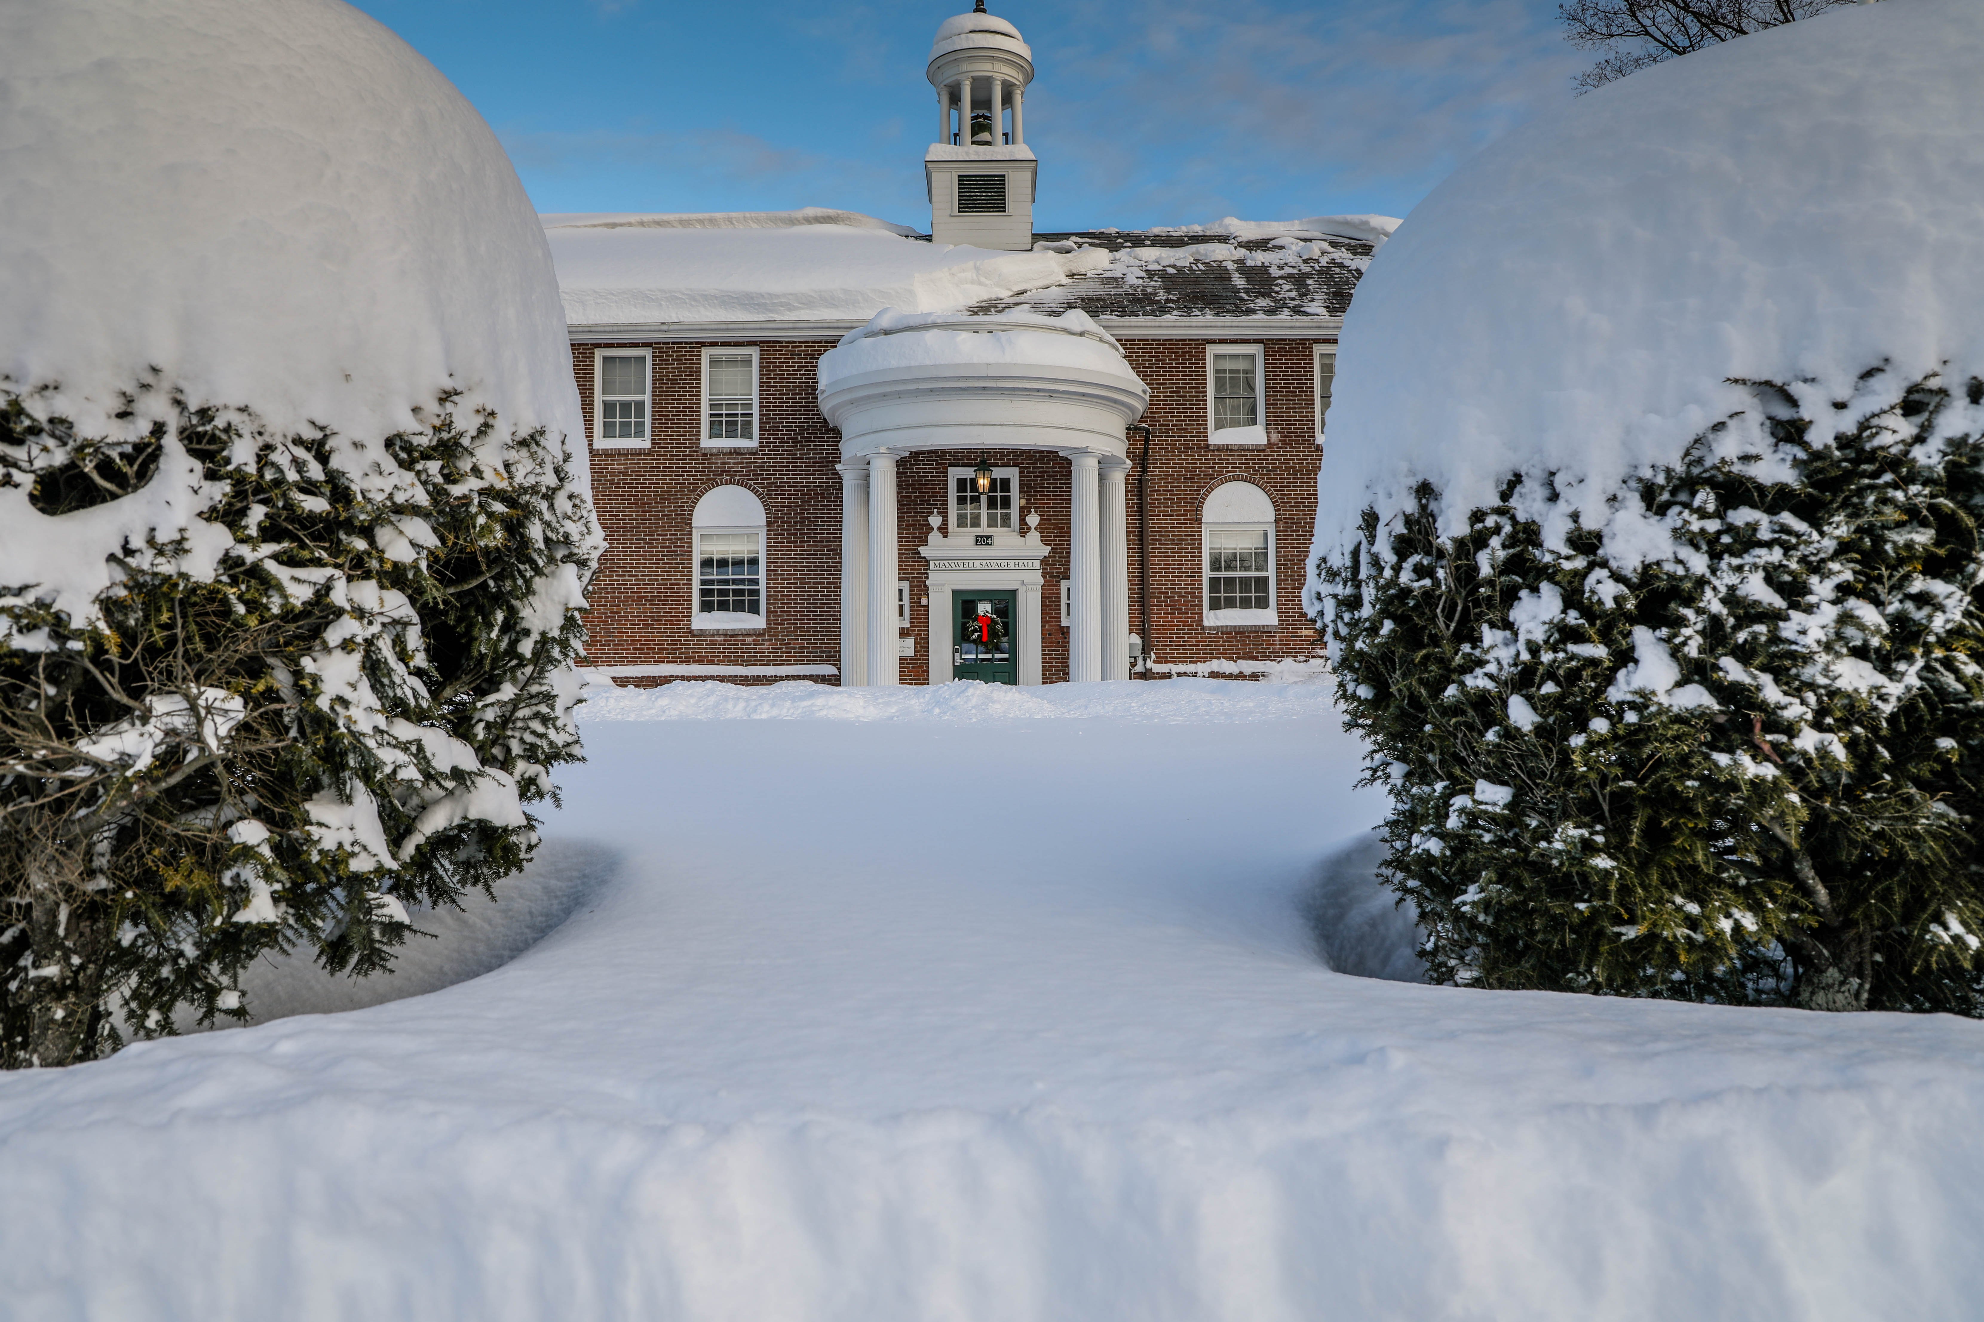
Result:
[[[714,220],[726,224],[704,224]],[[546,216],[544,226],[575,327],[956,311],[1107,262],[1099,252],[930,244],[851,212]]]

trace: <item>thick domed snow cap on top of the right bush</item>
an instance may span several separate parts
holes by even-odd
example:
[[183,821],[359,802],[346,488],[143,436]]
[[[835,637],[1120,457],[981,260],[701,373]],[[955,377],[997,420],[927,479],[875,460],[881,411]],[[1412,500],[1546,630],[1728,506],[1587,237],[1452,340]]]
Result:
[[[1984,6],[1885,0],[1619,79],[1460,166],[1343,327],[1319,549],[1428,480],[1446,525],[1553,474],[1585,527],[1807,381],[1984,375]],[[1542,499],[1544,482],[1528,488]]]

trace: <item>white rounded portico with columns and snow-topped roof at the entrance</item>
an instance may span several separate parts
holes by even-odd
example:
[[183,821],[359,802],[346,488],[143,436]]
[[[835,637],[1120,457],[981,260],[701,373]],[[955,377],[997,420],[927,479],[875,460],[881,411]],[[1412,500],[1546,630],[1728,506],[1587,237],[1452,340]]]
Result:
[[[1069,678],[1129,676],[1123,428],[1151,390],[1085,313],[885,311],[819,359],[819,410],[841,432],[841,682],[897,684],[897,458],[952,450],[1052,450],[1069,462]],[[1038,513],[940,527],[929,561],[930,682],[952,678],[952,597],[1016,593],[1020,684],[1040,684]]]

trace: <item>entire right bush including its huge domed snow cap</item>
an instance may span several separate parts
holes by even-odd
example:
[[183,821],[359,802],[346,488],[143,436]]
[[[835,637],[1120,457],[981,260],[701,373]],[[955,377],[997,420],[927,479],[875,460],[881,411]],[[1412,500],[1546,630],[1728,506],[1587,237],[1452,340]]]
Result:
[[1436,979],[1978,1013],[1980,57],[1659,65],[1373,264],[1309,603]]

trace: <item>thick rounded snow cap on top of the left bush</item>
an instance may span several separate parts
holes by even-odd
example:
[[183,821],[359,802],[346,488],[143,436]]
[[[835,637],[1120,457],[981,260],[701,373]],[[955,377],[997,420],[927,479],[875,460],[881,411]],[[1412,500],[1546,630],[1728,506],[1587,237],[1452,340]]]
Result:
[[337,0],[0,6],[0,377],[85,434],[194,404],[381,436],[436,390],[583,434],[552,258],[496,137]]

